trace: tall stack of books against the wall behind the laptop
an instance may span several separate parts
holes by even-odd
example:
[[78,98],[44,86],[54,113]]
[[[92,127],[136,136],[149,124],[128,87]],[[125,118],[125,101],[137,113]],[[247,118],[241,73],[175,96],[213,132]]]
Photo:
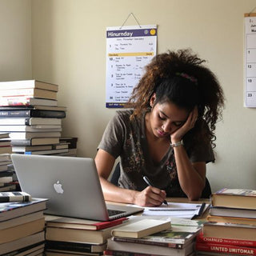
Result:
[[14,153],[68,152],[59,144],[66,107],[58,106],[57,93],[58,85],[48,82],[0,82],[0,133],[10,133]]

